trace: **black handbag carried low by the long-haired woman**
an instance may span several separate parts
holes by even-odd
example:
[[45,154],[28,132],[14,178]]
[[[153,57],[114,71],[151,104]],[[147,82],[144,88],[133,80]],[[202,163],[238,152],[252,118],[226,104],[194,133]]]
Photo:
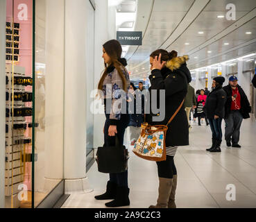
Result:
[[115,146],[98,147],[96,162],[101,173],[122,173],[128,169],[128,150],[119,144],[117,136],[115,142]]

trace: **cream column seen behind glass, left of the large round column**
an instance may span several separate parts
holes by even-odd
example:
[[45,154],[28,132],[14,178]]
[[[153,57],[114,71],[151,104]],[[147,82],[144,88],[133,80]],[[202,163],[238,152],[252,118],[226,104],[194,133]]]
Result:
[[49,120],[44,140],[46,190],[63,178],[64,10],[63,0],[46,1],[45,117]]

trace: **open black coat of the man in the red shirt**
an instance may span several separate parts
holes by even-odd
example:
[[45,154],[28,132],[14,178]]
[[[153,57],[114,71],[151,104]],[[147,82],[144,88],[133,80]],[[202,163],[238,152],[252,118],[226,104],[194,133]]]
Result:
[[[250,107],[250,103],[248,101],[248,98],[244,92],[244,90],[241,88],[240,85],[237,85],[239,94],[241,96],[241,109],[239,110],[241,112],[241,115],[244,119],[250,118],[250,112],[252,108]],[[230,85],[227,85],[223,87],[227,94],[227,101],[225,103],[225,119],[228,119],[228,115],[231,111],[231,104],[232,104],[232,87]]]

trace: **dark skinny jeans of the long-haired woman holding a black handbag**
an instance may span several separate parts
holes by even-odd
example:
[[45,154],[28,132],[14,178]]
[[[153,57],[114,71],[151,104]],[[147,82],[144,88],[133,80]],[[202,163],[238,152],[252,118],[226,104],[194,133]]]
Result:
[[[105,128],[104,128],[104,146],[114,146],[115,137],[108,136],[108,128],[110,127],[110,114],[105,114]],[[117,123],[117,134],[119,143],[123,145],[123,137],[130,122],[129,114],[121,114],[121,119]],[[116,183],[119,187],[128,187],[128,171],[123,173],[110,173],[110,181]]]

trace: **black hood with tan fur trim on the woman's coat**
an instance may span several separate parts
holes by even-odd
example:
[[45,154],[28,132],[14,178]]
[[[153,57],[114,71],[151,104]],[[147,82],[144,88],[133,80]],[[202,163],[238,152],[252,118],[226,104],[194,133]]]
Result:
[[192,78],[186,63],[188,60],[189,56],[180,56],[172,58],[171,60],[167,61],[166,67],[171,71],[179,69],[187,76],[187,83],[191,83]]

